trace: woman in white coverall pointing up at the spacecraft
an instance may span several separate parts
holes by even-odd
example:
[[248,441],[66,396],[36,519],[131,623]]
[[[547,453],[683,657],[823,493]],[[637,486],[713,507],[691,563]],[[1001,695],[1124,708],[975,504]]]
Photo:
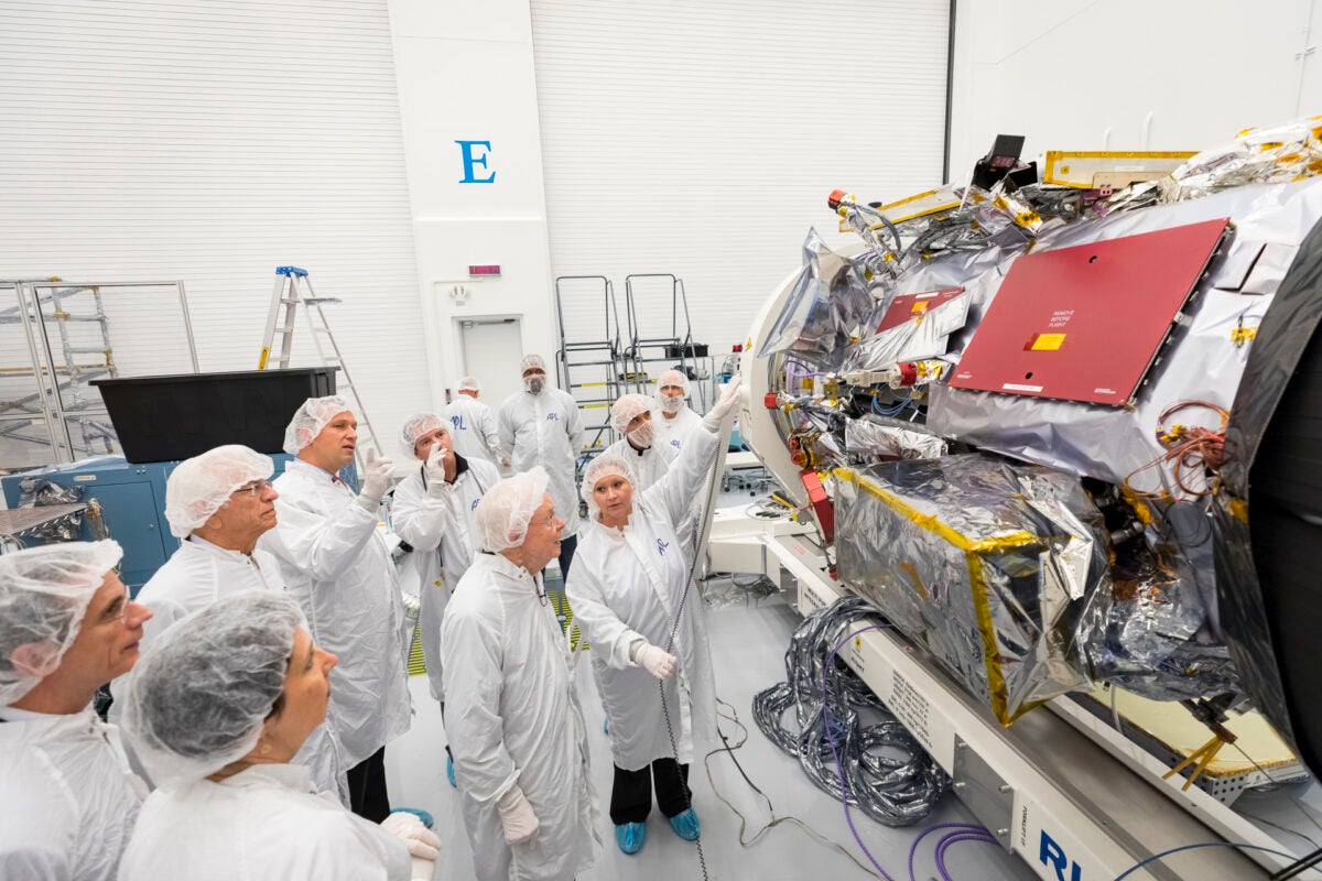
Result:
[[736,379],[652,489],[636,493],[629,462],[615,456],[592,460],[583,476],[591,515],[564,589],[592,646],[611,720],[611,822],[625,853],[646,840],[653,783],[674,832],[690,841],[699,832],[689,763],[694,740],[715,736],[715,687],[702,597],[677,526],[707,477],[720,420],[738,394]]

